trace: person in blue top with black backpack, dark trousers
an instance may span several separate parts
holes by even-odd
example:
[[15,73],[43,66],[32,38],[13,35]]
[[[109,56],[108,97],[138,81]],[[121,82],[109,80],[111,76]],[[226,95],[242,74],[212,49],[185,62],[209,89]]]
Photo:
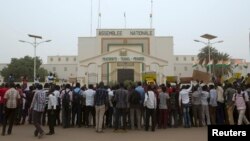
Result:
[[77,115],[76,117],[76,120],[77,120],[77,126],[78,127],[81,127],[81,119],[82,119],[82,111],[81,111],[81,108],[82,108],[82,97],[83,97],[83,92],[80,88],[80,83],[76,83],[76,87],[75,89],[73,90],[73,100],[72,100],[72,126],[75,125],[75,116]]

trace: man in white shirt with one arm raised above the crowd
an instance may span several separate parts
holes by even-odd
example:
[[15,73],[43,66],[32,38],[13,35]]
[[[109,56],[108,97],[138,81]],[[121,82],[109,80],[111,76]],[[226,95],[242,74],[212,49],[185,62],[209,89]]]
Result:
[[179,94],[179,106],[182,106],[185,128],[190,128],[191,126],[189,115],[189,93],[191,92],[192,87],[193,83],[191,81],[190,87],[188,85],[182,86]]

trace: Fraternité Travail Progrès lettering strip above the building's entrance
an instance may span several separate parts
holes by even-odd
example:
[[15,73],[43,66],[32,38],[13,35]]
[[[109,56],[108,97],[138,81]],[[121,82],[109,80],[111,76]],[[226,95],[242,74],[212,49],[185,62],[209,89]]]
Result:
[[103,57],[104,62],[143,62],[144,57]]

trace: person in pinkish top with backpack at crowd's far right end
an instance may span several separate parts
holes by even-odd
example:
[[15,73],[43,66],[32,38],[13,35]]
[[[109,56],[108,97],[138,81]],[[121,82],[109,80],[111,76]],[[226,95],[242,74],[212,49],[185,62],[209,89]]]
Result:
[[238,125],[241,125],[242,122],[249,125],[249,121],[247,120],[245,116],[246,112],[246,102],[248,102],[248,95],[245,93],[245,91],[242,91],[242,88],[239,86],[237,87],[237,92],[234,94],[232,101],[235,102],[235,105],[237,107],[239,116],[238,116]]

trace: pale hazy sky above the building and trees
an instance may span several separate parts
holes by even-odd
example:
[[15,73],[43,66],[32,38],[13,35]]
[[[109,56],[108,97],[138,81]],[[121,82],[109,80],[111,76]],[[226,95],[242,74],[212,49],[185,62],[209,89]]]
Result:
[[[98,9],[98,0],[92,8],[91,0],[0,0],[0,63],[34,56],[19,42],[33,42],[28,34],[52,40],[37,46],[43,63],[77,55],[78,37],[96,35]],[[151,0],[100,0],[100,12],[101,28],[125,28],[124,13],[126,28],[150,28]],[[152,15],[155,35],[173,36],[175,55],[198,54],[204,44],[194,39],[207,42],[200,36],[208,33],[224,41],[213,45],[218,51],[250,61],[250,0],[153,0]]]

